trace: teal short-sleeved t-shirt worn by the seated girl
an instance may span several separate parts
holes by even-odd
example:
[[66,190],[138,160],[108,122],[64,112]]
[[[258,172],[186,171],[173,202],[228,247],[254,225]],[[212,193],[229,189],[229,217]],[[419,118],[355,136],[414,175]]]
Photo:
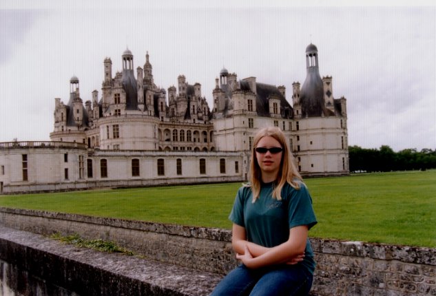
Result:
[[[258,200],[253,203],[251,187],[240,187],[233,209],[231,222],[245,228],[247,240],[260,246],[278,246],[289,240],[289,229],[307,225],[309,229],[317,223],[312,207],[312,198],[304,183],[294,189],[288,183],[282,189],[282,200],[272,197],[273,183],[262,184]],[[305,257],[300,264],[308,271],[315,271],[315,260],[309,239]]]

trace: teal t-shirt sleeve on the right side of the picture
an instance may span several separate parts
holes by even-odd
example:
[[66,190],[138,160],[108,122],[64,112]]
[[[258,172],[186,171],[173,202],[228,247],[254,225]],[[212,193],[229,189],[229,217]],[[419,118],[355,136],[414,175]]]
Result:
[[300,189],[290,187],[288,204],[289,229],[295,226],[307,225],[311,229],[317,224],[312,198],[307,187],[302,183]]

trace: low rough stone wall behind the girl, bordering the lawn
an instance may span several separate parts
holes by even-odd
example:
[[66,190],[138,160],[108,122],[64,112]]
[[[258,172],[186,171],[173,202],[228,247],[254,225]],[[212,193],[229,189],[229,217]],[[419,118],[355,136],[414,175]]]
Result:
[[[224,275],[236,266],[231,232],[0,208],[0,224],[34,233],[111,240],[145,257]],[[436,295],[436,249],[311,238],[313,295]]]

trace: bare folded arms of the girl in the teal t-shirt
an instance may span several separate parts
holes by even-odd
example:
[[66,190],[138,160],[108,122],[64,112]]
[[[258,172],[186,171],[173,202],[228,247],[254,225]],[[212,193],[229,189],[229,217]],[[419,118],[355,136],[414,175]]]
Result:
[[302,261],[306,249],[307,226],[295,226],[289,230],[289,239],[273,248],[248,242],[245,228],[233,224],[232,246],[236,258],[248,268],[260,268],[273,264],[296,264]]

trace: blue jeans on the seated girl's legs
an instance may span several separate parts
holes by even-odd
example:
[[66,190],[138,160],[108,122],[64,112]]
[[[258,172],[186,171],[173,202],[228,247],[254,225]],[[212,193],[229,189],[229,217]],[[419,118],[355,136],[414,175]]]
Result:
[[241,264],[216,286],[211,296],[308,295],[313,275],[304,266],[249,269]]

